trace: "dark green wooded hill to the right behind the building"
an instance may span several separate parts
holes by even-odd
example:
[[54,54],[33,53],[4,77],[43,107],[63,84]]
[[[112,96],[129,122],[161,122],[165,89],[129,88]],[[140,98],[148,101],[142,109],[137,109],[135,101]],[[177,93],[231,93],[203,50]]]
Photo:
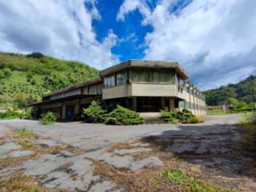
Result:
[[[239,102],[250,103],[250,92],[254,89],[256,94],[256,75],[251,75],[242,82],[221,86],[218,89],[206,90],[206,104],[217,106],[227,102],[229,98],[236,98]],[[256,97],[256,95],[255,95]]]

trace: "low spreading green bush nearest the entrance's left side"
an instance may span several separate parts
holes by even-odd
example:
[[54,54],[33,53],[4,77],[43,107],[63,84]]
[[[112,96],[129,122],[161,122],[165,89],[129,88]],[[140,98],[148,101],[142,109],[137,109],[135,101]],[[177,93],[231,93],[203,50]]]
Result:
[[104,122],[108,125],[138,125],[143,123],[143,118],[140,114],[133,110],[126,109],[122,106],[117,106],[110,114],[107,114]]

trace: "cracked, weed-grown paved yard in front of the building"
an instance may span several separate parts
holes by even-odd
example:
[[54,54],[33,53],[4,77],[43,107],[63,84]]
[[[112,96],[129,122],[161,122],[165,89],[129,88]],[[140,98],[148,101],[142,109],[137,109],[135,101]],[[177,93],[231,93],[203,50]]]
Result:
[[[0,177],[26,175],[46,189],[141,191],[146,171],[195,166],[198,177],[214,185],[255,191],[254,161],[238,153],[241,136],[234,125],[239,118],[208,116],[197,125],[141,126],[0,121]],[[19,138],[15,130],[23,128],[37,137]]]

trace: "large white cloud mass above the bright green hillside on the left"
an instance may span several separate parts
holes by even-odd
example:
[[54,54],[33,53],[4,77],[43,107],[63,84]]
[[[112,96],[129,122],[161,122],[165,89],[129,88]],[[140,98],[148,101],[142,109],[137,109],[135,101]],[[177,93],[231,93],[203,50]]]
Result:
[[0,1],[0,50],[42,52],[102,69],[119,62],[111,53],[117,36],[110,30],[98,42],[92,26],[101,19],[96,0]]

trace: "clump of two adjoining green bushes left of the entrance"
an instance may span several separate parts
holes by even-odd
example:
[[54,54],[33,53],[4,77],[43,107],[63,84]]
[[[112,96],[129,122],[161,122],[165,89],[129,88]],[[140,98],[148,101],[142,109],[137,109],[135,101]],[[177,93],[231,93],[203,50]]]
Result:
[[143,118],[140,114],[133,110],[126,109],[122,106],[117,106],[116,109],[107,113],[102,110],[98,102],[91,102],[90,106],[84,109],[85,122],[105,123],[107,125],[138,125],[143,123]]

